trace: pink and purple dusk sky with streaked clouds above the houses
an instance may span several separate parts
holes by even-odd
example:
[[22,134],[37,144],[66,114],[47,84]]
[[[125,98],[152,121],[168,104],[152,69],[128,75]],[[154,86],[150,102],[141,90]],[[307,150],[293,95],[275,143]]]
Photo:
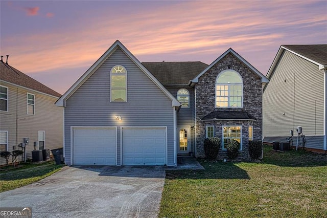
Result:
[[232,48],[267,74],[281,45],[327,43],[327,1],[3,1],[0,53],[63,94],[116,39],[141,62],[210,64]]

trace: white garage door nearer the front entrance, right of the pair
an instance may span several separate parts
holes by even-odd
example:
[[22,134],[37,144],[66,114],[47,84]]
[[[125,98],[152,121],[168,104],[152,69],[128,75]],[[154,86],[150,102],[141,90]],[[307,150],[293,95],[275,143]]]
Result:
[[123,128],[123,165],[165,165],[166,128]]

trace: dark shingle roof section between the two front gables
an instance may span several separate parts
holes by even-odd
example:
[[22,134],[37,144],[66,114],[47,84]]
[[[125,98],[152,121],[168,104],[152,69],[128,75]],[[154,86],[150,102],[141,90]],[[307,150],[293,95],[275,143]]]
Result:
[[208,64],[201,61],[142,62],[163,85],[188,85]]

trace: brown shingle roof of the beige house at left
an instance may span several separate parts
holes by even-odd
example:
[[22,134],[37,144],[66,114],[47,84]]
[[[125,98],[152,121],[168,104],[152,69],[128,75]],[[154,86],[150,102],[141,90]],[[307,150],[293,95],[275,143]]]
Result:
[[0,61],[0,80],[27,88],[46,95],[60,98],[60,94],[43,85],[37,80],[11,67],[9,64]]

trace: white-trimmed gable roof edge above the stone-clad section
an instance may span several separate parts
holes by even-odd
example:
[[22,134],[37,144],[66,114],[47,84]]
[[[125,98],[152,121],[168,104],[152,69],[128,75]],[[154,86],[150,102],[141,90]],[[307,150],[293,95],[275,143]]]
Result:
[[224,58],[228,53],[231,53],[234,56],[236,56],[240,61],[242,61],[254,73],[258,74],[258,76],[261,77],[261,82],[263,82],[263,83],[269,82],[269,80],[262,73],[260,73],[260,71],[256,70],[249,62],[247,62],[247,60],[245,60],[241,55],[239,55],[238,53],[236,53],[231,48],[229,48],[227,51],[225,51],[214,62],[212,62],[207,68],[205,68],[199,75],[197,75],[195,78],[193,78],[192,79],[192,82],[198,82],[200,76],[202,76],[205,72],[207,72],[209,69],[211,69],[218,61],[220,61],[222,58]]

